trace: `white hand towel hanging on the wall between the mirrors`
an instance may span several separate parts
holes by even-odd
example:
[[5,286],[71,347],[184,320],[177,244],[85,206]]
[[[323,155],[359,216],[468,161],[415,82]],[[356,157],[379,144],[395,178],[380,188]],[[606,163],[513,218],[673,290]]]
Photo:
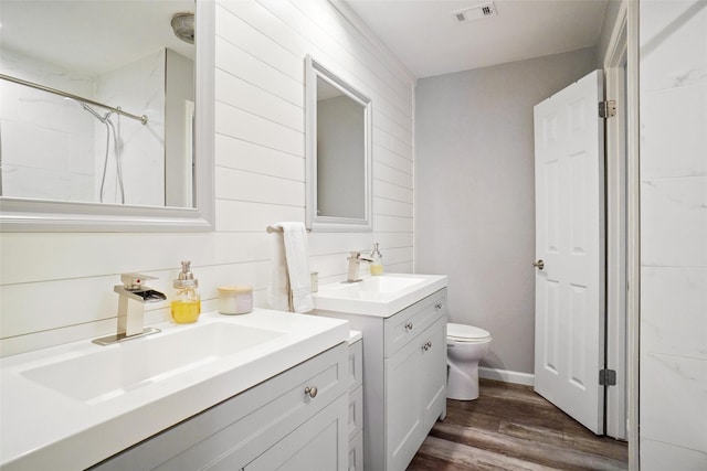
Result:
[[[274,234],[277,245],[273,245],[271,307],[282,310],[283,299],[284,304],[287,306],[287,296],[289,293],[286,287],[283,290],[282,285],[283,281],[286,285],[288,280],[294,312],[312,311],[314,303],[312,301],[309,250],[307,248],[305,225],[302,223],[277,223],[275,227],[282,228],[283,233],[282,236],[279,233]],[[283,270],[284,267],[286,268]]]

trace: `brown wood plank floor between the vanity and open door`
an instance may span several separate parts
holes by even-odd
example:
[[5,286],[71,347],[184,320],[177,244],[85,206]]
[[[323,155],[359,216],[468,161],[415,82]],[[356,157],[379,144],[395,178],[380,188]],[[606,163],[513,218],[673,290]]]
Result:
[[481,379],[478,399],[447,399],[408,471],[626,469],[626,442],[597,437],[530,386]]

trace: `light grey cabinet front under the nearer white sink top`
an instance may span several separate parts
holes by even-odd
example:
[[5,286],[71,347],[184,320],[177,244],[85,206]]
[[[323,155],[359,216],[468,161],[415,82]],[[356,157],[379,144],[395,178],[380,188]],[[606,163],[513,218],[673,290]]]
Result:
[[348,389],[349,349],[341,343],[92,470],[344,471]]

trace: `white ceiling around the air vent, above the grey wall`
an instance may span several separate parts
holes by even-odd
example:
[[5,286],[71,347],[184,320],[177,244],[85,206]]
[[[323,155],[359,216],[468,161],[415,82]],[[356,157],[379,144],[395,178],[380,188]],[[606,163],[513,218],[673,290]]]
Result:
[[458,23],[490,1],[339,0],[418,78],[594,46],[608,1],[495,0],[496,15]]

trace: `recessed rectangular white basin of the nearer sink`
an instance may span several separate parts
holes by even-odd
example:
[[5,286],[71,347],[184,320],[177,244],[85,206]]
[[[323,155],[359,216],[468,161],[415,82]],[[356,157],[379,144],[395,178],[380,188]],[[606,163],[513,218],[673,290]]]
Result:
[[95,349],[21,375],[68,397],[97,404],[282,335],[282,331],[228,322],[196,324],[188,330]]

